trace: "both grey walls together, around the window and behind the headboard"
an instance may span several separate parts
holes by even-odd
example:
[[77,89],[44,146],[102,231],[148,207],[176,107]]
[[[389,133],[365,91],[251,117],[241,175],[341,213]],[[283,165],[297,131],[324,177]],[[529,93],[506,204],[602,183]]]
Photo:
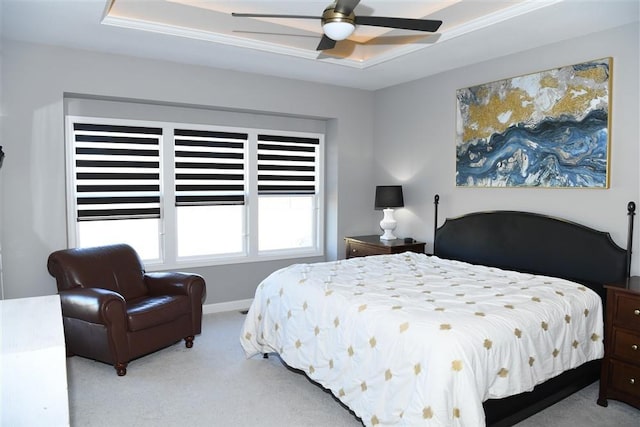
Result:
[[[66,246],[64,97],[138,99],[270,115],[326,125],[327,259],[345,235],[377,231],[375,185],[403,183],[398,235],[432,240],[432,198],[441,218],[480,209],[523,209],[610,231],[625,244],[626,204],[640,202],[639,29],[633,24],[366,92],[169,62],[2,41],[0,243],[4,298],[55,293],[46,258]],[[490,47],[488,47],[490,48]],[[611,56],[613,105],[608,190],[455,187],[455,90]],[[636,227],[640,230],[640,225]],[[636,248],[640,239],[636,232]],[[636,250],[633,272],[640,272]],[[251,298],[275,269],[297,261],[195,269],[207,303]]]

